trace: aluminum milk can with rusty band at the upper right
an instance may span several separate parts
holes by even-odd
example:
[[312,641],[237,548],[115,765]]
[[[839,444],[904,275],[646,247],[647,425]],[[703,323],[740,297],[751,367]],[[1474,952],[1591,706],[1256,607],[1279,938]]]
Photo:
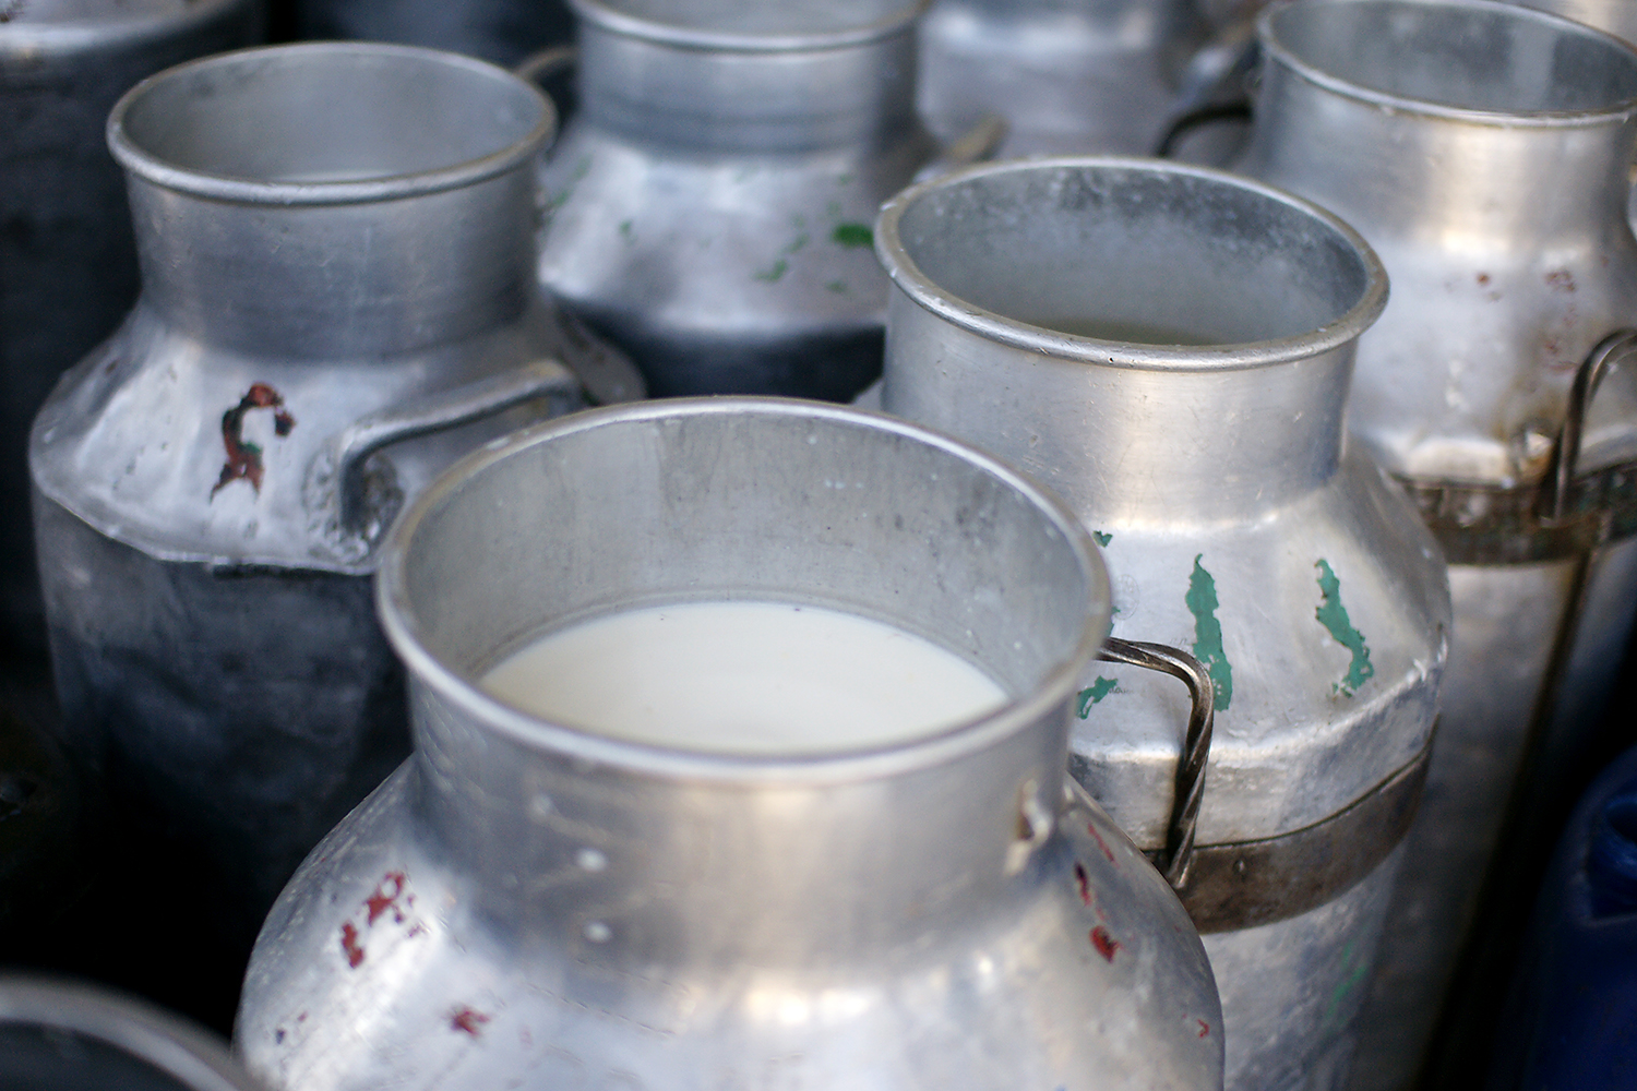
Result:
[[1442,726],[1388,926],[1403,942],[1357,1066],[1360,1088],[1401,1088],[1526,749],[1549,775],[1596,723],[1637,608],[1637,388],[1627,342],[1604,343],[1637,321],[1637,54],[1490,3],[1308,0],[1259,36],[1241,168],[1336,211],[1393,276],[1349,419],[1450,563]]

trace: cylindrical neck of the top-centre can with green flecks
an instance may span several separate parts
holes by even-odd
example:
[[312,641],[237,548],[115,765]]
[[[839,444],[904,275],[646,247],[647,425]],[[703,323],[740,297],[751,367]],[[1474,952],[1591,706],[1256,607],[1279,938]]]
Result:
[[764,47],[642,29],[581,18],[579,97],[599,129],[684,152],[779,154],[877,147],[918,124],[909,20],[861,41]]

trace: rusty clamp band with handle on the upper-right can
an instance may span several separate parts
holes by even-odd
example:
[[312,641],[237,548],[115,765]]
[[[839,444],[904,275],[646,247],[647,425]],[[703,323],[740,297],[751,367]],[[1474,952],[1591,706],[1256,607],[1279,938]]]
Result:
[[1576,473],[1591,399],[1634,352],[1637,330],[1621,329],[1581,361],[1540,481],[1506,487],[1398,478],[1450,564],[1563,561],[1637,533],[1637,461]]

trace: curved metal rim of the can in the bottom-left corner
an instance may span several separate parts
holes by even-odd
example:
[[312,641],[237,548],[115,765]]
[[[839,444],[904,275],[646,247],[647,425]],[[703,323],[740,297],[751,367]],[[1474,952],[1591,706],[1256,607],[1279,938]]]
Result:
[[192,1091],[250,1091],[226,1044],[136,996],[62,978],[0,975],[0,1026],[69,1030],[115,1047]]

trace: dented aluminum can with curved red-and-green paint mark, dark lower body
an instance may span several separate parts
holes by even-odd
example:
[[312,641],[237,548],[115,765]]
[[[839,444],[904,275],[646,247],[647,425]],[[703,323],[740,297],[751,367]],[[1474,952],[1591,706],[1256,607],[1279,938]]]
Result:
[[552,128],[503,69],[368,44],[198,61],[110,118],[142,294],[34,424],[56,680],[126,855],[219,880],[246,950],[408,752],[380,533],[498,429],[583,404],[534,291]]

